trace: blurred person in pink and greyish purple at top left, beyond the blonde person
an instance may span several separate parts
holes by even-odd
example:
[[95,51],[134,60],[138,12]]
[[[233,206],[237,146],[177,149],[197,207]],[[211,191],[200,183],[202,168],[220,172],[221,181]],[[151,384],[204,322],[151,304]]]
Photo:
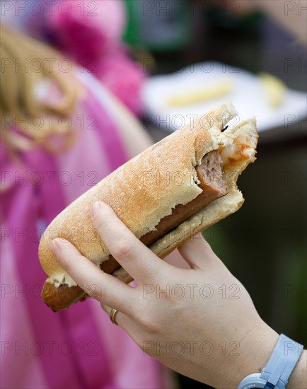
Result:
[[121,42],[127,19],[121,0],[4,1],[1,16],[91,71],[129,110],[141,114],[145,74]]

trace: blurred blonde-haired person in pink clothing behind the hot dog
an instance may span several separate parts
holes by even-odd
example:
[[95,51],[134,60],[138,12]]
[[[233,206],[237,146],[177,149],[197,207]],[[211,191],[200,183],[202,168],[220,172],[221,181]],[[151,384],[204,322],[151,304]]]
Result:
[[89,72],[4,26],[1,66],[1,388],[167,388],[100,304],[45,306],[37,257],[47,224],[151,139]]

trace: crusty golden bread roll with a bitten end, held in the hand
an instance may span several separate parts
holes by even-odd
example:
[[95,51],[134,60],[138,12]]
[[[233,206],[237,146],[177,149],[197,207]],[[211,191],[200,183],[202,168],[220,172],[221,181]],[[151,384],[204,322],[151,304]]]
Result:
[[[110,252],[91,222],[93,202],[103,200],[109,204],[134,235],[141,238],[154,231],[178,204],[187,204],[202,192],[196,167],[212,151],[221,156],[227,194],[214,199],[150,248],[163,258],[195,233],[237,211],[244,199],[236,180],[255,160],[257,145],[254,117],[224,129],[237,115],[231,103],[221,105],[132,158],[66,207],[40,241],[39,257],[49,276],[47,284],[55,288],[76,286],[49,248],[54,238],[71,241],[98,266],[109,259]],[[122,268],[112,274],[131,281]]]

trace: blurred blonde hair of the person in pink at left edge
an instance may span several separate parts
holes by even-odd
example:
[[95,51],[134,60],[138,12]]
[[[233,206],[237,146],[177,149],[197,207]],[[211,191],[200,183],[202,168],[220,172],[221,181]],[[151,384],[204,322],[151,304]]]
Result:
[[[56,50],[4,25],[0,32],[1,140],[11,153],[37,146],[50,152],[67,149],[74,140],[71,125],[61,126],[59,120],[52,120],[50,124],[44,117],[68,115],[74,109],[76,81],[71,74],[59,70],[62,57]],[[38,71],[35,62],[40,65]],[[35,88],[43,80],[52,81],[62,98],[51,103],[40,101],[35,96]],[[40,120],[40,126],[35,125],[37,120]],[[54,135],[60,141],[54,142]]]

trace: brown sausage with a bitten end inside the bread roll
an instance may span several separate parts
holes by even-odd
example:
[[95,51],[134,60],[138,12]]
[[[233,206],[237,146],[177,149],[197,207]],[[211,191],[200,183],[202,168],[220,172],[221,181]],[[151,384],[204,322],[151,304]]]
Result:
[[[204,208],[209,202],[222,197],[226,194],[226,183],[223,180],[221,170],[221,156],[218,151],[211,151],[202,158],[202,163],[196,167],[199,178],[199,187],[202,189],[192,202],[188,204],[178,204],[172,211],[172,214],[165,216],[156,226],[156,231],[149,231],[140,240],[149,246],[165,236],[173,228],[179,226],[183,221],[195,214],[199,209]],[[120,269],[120,264],[111,255],[108,260],[100,265],[103,272],[112,274]],[[64,284],[58,288],[49,282],[45,282],[42,294],[43,300],[54,312],[68,308],[77,301],[83,301],[86,298],[86,292],[79,286]]]

